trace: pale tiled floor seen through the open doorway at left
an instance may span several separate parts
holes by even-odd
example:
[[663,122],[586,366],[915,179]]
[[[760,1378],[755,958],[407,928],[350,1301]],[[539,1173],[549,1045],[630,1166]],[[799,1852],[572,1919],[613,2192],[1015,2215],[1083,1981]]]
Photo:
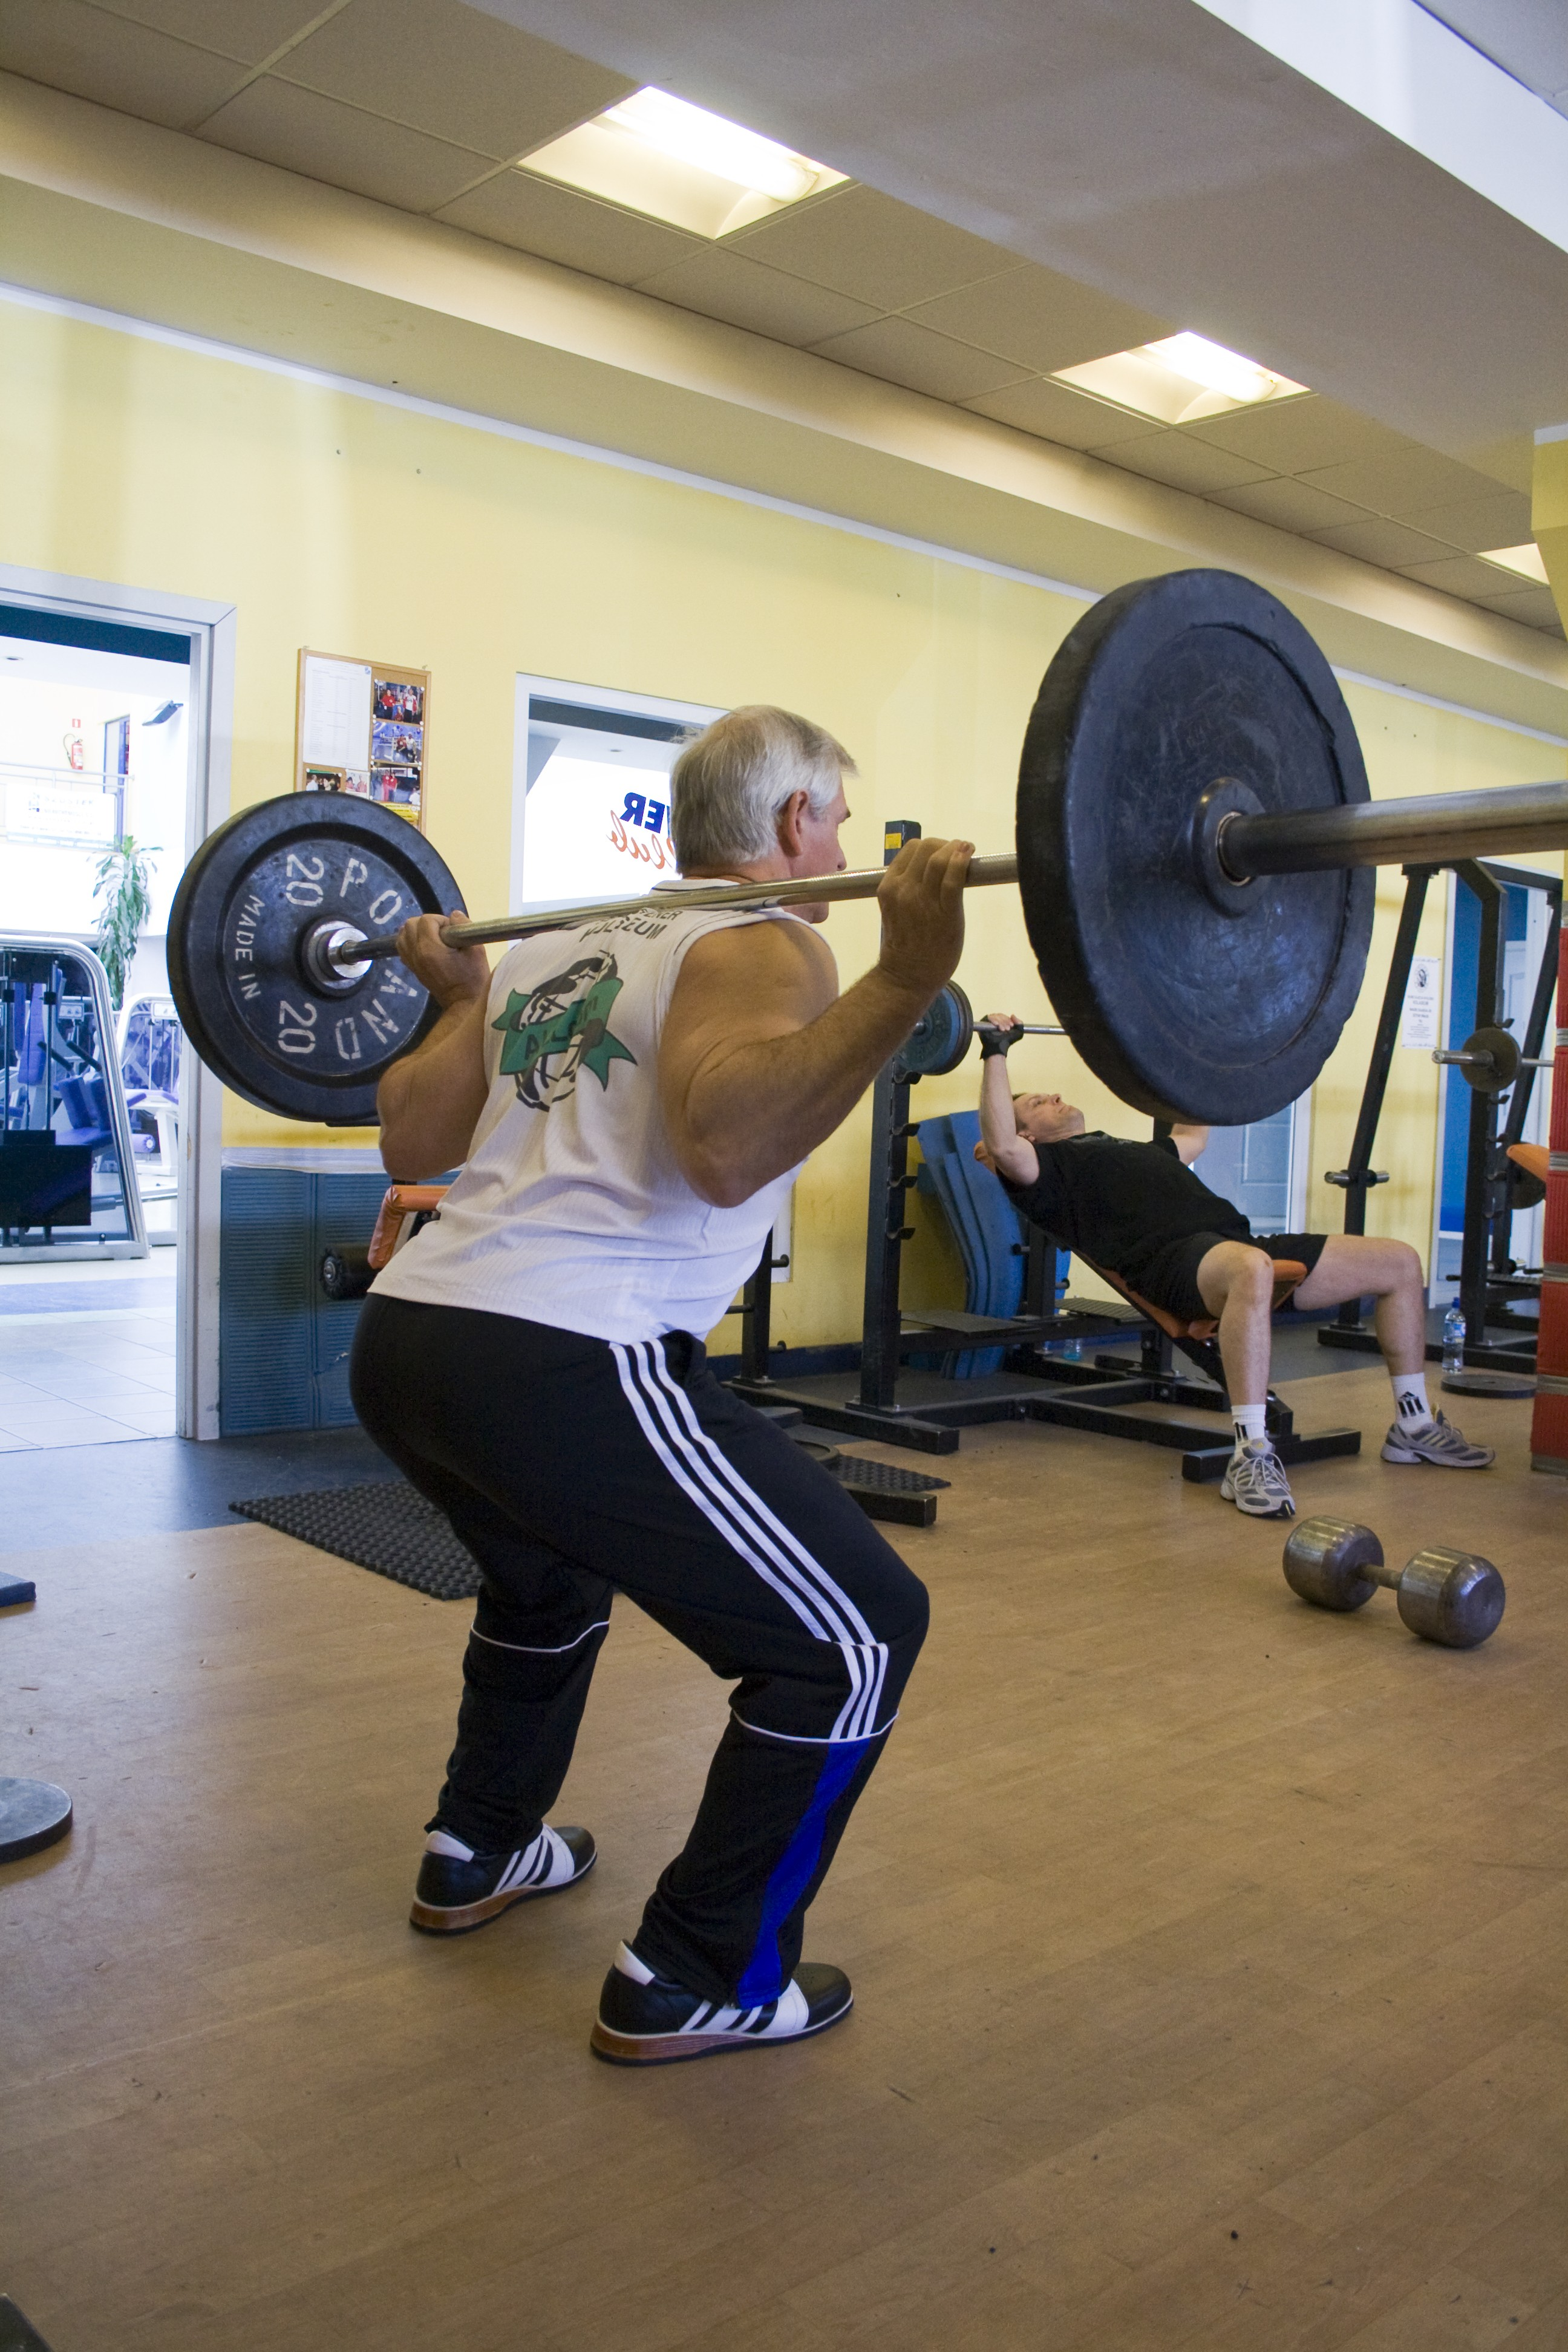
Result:
[[[103,1279],[108,1268],[82,1268],[80,1277],[59,1268],[68,1294],[61,1279],[38,1287],[38,1310],[24,1284],[0,1272],[0,1454],[174,1435],[172,1272],[139,1282],[134,1305],[115,1305],[132,1294]],[[63,1296],[71,1305],[61,1310]]]

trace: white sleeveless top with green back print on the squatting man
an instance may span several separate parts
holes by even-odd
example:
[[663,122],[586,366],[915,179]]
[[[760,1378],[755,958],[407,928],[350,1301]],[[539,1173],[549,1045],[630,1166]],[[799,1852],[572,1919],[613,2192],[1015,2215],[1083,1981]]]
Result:
[[693,1192],[658,1108],[658,1037],[686,948],[743,922],[799,917],[675,901],[541,931],[501,957],[468,1164],[374,1296],[590,1338],[712,1331],[799,1171],[736,1209]]

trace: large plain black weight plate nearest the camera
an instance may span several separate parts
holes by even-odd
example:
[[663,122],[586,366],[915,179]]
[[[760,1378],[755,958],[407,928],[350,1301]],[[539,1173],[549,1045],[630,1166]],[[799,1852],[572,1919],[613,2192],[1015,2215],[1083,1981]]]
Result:
[[1018,884],[1051,1004],[1088,1068],[1154,1117],[1246,1127],[1293,1103],[1356,1002],[1371,868],[1197,882],[1199,795],[1267,811],[1366,800],[1333,670],[1234,572],[1103,597],[1046,670],[1018,774]]

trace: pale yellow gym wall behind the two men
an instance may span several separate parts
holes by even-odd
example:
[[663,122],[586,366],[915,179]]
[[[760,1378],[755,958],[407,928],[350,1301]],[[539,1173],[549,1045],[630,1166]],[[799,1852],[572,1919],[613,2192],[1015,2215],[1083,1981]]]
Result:
[[[1023,722],[1081,607],[733,499],[294,383],[216,358],[7,308],[0,339],[0,553],[16,564],[237,607],[233,802],[287,790],[301,644],[433,670],[428,826],[470,906],[503,903],[520,670],[698,703],[809,710],[860,762],[851,863],[877,863],[886,816],[1001,849]],[[1352,689],[1375,793],[1563,774],[1563,753],[1502,727]],[[1314,1171],[1338,1164],[1387,967],[1399,877],[1385,877],[1368,993],[1319,1087]],[[1425,941],[1441,938],[1436,929]],[[875,913],[830,938],[846,976]],[[1011,894],[971,901],[961,981],[978,1007],[1039,1014]],[[1143,1122],[1065,1047],[1023,1049],[1091,1124]],[[976,1063],[917,1108],[973,1103]],[[1427,1247],[1436,1073],[1401,1056],[1373,1195],[1375,1230]],[[228,1101],[230,1143],[364,1143]],[[1312,1197],[1338,1223],[1340,1195]],[[797,1197],[795,1279],[776,1336],[849,1338],[860,1315],[865,1117],[813,1160]],[[952,1254],[914,1249],[910,1296],[938,1296]],[[733,1343],[733,1324],[719,1345]]]

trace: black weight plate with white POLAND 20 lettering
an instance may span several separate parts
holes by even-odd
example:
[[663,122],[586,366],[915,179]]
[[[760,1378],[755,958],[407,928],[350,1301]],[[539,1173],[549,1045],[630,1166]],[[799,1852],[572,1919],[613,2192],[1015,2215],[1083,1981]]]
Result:
[[395,957],[350,990],[306,976],[301,941],[341,917],[378,938],[461,894],[423,833],[343,793],[282,793],[207,835],[169,908],[169,990],[226,1087],[284,1120],[374,1127],[376,1082],[437,1018]]

